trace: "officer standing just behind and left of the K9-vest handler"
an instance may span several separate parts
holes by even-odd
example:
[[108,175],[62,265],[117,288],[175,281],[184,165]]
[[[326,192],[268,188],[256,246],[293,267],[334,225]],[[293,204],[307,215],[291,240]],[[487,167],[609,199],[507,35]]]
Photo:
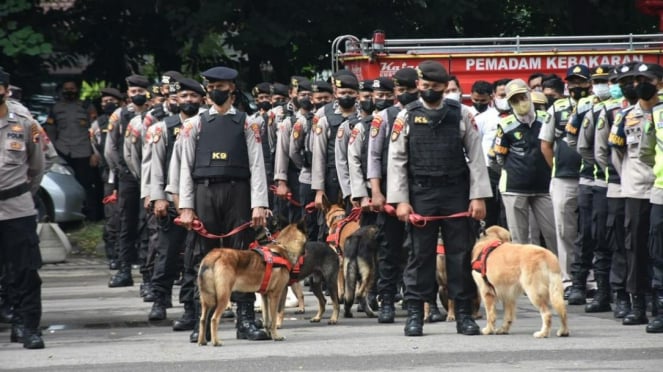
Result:
[[[200,105],[205,97],[205,88],[197,81],[181,77],[178,81],[171,81],[177,91],[177,105],[179,114],[166,117],[148,129],[146,136],[151,147],[149,198],[154,203],[154,215],[157,220],[157,247],[154,271],[151,278],[152,290],[155,295],[149,320],[166,319],[166,308],[171,305],[173,282],[177,271],[178,256],[185,246],[187,231],[173,223],[177,210],[171,194],[166,192],[169,180],[169,163],[172,158],[176,138],[182,128],[182,123],[198,115]],[[178,172],[179,170],[175,170]],[[173,323],[173,329],[192,330],[195,324],[195,311],[193,299],[186,293],[180,299],[184,303],[182,318]]]

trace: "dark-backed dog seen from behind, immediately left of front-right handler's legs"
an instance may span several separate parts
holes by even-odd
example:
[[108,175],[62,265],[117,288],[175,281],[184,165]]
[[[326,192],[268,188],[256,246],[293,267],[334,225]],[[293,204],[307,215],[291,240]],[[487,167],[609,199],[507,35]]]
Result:
[[[368,291],[377,276],[377,234],[377,226],[362,226],[345,241],[343,271],[345,273],[344,317],[346,318],[352,318],[352,304],[355,295],[364,306],[366,315],[370,318],[375,317],[375,313],[368,304]],[[357,282],[359,282],[359,288],[357,288]]]

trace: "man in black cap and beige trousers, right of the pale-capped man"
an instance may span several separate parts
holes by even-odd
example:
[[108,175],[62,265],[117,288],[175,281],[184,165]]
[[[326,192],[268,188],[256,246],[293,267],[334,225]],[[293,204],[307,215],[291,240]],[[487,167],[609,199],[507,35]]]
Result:
[[[548,109],[539,139],[541,152],[552,168],[550,197],[555,212],[557,255],[562,268],[562,280],[571,280],[571,257],[578,237],[578,177],[580,155],[566,141],[566,124],[581,98],[590,94],[589,68],[585,65],[569,67],[566,81],[571,97],[560,98]],[[554,166],[553,166],[554,158]],[[578,289],[585,288],[586,278],[578,278]],[[568,285],[568,284],[565,284]]]

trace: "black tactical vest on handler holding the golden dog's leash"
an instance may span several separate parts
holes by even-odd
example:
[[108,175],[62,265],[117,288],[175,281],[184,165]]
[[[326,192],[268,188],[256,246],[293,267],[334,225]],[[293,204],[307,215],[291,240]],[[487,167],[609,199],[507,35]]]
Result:
[[411,177],[457,176],[468,172],[460,137],[460,104],[445,100],[439,110],[419,101],[407,105]]

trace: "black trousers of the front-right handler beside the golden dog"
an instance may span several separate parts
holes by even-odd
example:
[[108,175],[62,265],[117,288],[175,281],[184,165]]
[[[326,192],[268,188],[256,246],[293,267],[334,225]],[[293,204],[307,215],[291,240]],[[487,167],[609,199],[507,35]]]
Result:
[[[467,211],[469,177],[414,177],[410,180],[410,203],[422,216],[450,215]],[[412,250],[403,273],[404,300],[433,301],[436,296],[436,247],[438,230],[446,247],[449,298],[469,301],[477,289],[471,273],[471,253],[476,224],[469,218],[435,221],[411,228]]]

